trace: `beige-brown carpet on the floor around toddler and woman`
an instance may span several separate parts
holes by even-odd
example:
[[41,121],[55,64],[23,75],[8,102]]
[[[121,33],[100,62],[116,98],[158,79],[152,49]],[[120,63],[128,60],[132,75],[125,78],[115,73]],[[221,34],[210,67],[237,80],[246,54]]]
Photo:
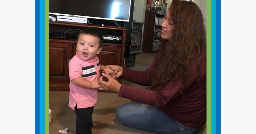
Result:
[[[145,58],[147,57],[147,58]],[[145,70],[153,61],[155,54],[141,53],[136,56],[136,66],[133,70]],[[139,85],[123,80],[123,84],[139,87]],[[68,91],[49,91],[49,108],[52,110],[52,122],[49,124],[49,134],[60,134],[59,130],[69,128],[67,134],[75,134],[75,112],[68,107]],[[98,103],[93,112],[93,134],[154,134],[133,129],[120,124],[115,118],[116,107],[131,102],[117,97],[117,93],[99,93]],[[204,129],[197,134],[206,134]]]

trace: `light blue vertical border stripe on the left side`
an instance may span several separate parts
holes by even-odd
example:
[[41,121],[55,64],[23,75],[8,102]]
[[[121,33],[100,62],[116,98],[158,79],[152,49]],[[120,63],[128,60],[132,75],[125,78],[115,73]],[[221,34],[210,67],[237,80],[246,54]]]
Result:
[[39,133],[44,134],[44,0],[39,1]]

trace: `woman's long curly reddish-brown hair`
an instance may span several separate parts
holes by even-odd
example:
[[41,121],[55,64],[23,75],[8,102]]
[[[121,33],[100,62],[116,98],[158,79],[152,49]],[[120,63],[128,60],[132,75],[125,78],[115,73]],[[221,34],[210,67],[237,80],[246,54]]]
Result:
[[206,52],[206,32],[202,13],[195,3],[172,0],[168,12],[173,22],[172,35],[161,42],[151,89],[161,92],[170,80],[179,78],[182,92],[190,74],[191,59]]

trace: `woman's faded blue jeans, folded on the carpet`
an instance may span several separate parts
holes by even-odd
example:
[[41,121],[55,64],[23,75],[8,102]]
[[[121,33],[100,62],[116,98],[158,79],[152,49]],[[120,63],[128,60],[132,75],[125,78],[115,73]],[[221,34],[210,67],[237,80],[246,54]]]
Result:
[[160,108],[137,102],[117,107],[116,118],[123,125],[158,134],[195,134],[201,128],[184,126]]

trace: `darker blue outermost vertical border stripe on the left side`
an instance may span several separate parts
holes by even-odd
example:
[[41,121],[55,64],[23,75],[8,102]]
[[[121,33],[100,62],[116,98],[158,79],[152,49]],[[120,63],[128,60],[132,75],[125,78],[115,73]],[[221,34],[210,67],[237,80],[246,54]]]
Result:
[[39,2],[35,0],[35,134],[39,132]]

